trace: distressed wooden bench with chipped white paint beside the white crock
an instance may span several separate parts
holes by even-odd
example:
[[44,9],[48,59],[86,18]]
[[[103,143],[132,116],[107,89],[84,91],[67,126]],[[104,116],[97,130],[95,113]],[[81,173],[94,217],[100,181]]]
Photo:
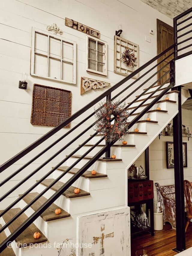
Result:
[[176,229],[176,210],[175,210],[175,185],[159,185],[157,188],[158,201],[163,208],[163,224],[169,222],[173,229]]

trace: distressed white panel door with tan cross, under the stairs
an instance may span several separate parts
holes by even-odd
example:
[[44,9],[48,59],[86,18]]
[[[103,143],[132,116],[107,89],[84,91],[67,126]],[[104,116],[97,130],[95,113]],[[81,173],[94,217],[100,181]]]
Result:
[[131,256],[130,208],[77,218],[77,256]]

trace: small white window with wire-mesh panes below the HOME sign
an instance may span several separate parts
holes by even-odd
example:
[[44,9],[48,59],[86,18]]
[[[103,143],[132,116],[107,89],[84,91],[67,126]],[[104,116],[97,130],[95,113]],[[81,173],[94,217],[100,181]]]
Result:
[[86,55],[86,71],[107,76],[107,43],[87,35]]

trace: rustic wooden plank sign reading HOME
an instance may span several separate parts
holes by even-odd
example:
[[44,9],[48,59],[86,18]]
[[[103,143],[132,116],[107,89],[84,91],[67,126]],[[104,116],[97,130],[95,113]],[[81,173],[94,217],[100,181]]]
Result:
[[98,30],[92,29],[92,28],[85,26],[77,21],[65,18],[65,26],[79,30],[85,34],[100,38],[100,32]]

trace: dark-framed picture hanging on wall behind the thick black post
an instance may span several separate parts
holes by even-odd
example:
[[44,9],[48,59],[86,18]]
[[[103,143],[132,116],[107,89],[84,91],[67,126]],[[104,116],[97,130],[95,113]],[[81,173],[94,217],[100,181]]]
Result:
[[[167,169],[174,168],[173,142],[166,142]],[[183,142],[183,167],[187,167],[187,142]]]

